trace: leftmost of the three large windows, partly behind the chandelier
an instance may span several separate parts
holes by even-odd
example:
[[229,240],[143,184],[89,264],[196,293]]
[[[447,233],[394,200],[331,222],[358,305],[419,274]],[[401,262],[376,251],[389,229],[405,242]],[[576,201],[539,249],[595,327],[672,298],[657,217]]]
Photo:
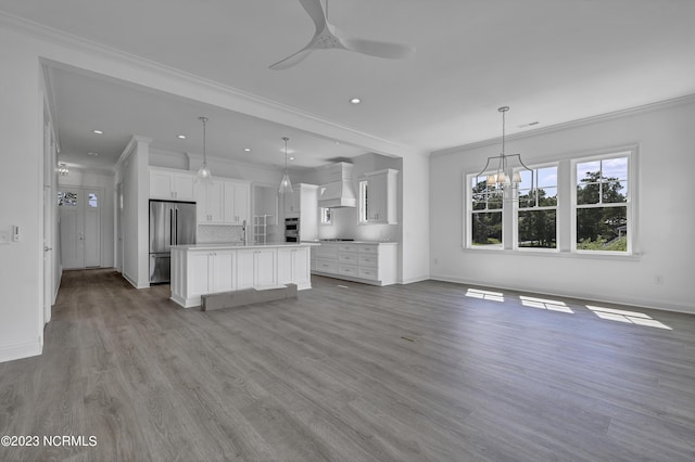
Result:
[[502,196],[488,191],[486,176],[470,177],[469,245],[502,247]]

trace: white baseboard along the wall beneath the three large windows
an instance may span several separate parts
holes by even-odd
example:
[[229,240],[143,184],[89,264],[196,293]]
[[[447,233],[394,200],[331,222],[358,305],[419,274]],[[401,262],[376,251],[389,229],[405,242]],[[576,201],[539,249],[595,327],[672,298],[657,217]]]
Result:
[[535,287],[513,287],[507,285],[492,285],[482,281],[472,281],[464,278],[455,278],[451,275],[444,274],[432,274],[430,279],[434,281],[443,281],[443,282],[453,282],[456,284],[465,284],[465,285],[473,285],[478,287],[489,287],[489,288],[497,288],[503,291],[514,291],[514,292],[525,292],[529,294],[538,294],[538,295],[547,295],[552,297],[566,297],[566,298],[574,298],[579,300],[586,300],[597,304],[612,304],[612,305],[626,305],[636,308],[646,308],[646,309],[655,309],[661,311],[673,311],[673,312],[683,312],[687,315],[695,315],[695,306],[680,305],[673,304],[670,301],[659,301],[659,300],[644,300],[637,298],[629,298],[629,297],[616,297],[616,298],[592,298],[586,294],[579,293],[560,293],[560,292],[551,292],[544,288],[535,288]]

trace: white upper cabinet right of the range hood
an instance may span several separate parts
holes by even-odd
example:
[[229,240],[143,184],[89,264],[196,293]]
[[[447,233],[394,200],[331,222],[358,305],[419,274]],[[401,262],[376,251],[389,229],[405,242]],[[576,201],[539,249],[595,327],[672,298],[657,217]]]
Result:
[[359,207],[362,223],[397,223],[397,178],[399,170],[386,170],[365,174],[365,185],[359,188]]

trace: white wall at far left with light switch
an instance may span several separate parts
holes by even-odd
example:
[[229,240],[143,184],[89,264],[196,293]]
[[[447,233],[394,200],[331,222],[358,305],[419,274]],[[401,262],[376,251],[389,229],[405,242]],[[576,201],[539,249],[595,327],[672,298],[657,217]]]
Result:
[[39,355],[42,310],[43,97],[30,47],[0,29],[0,231],[18,226],[18,242],[0,244],[0,361]]

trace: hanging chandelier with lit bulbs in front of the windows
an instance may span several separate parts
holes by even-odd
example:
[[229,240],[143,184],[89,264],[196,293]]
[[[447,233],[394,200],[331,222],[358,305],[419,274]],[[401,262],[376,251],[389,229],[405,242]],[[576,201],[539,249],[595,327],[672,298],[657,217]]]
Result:
[[[502,154],[495,157],[488,157],[488,163],[478,177],[486,176],[485,194],[504,195],[504,198],[518,200],[519,183],[521,182],[521,174],[519,170],[531,169],[521,161],[521,154],[505,154],[505,114],[509,111],[509,106],[502,106],[497,110],[502,113]],[[497,164],[494,174],[491,168]]]

